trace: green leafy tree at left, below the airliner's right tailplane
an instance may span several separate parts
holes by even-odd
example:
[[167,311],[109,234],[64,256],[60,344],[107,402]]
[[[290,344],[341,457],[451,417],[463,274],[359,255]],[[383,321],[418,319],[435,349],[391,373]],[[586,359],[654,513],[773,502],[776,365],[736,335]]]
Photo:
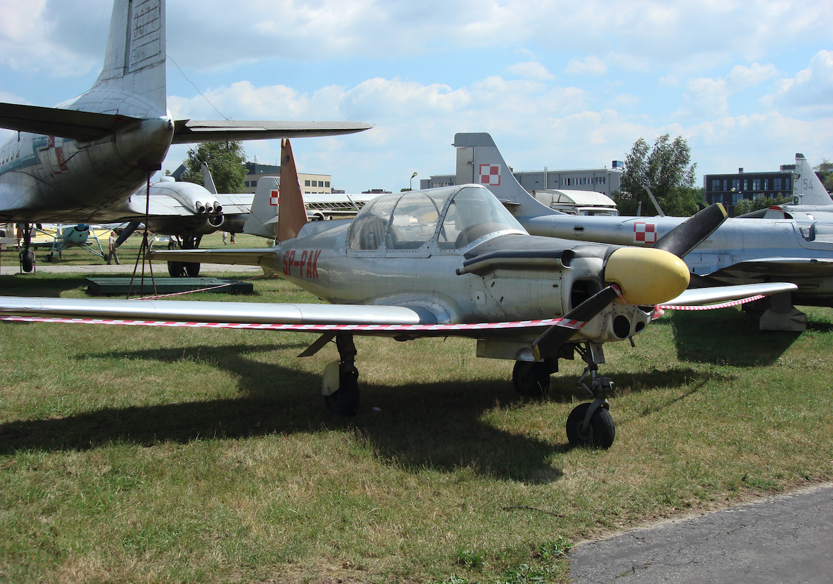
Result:
[[217,192],[243,192],[246,154],[242,142],[202,142],[196,151],[188,151],[186,169],[179,180],[202,185],[201,161],[207,163]]

